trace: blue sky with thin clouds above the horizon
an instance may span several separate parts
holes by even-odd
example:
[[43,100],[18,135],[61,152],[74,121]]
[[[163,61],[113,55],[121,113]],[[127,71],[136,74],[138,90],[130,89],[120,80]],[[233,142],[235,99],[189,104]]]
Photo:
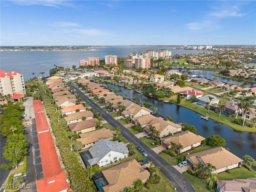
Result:
[[1,46],[256,44],[256,1],[1,0]]

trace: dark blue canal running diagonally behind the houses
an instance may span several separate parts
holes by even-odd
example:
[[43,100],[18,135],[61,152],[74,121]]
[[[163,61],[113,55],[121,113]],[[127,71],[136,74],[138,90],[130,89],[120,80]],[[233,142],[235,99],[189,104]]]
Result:
[[[123,87],[119,87],[114,84],[104,83],[103,86],[112,86],[114,89],[121,89],[120,95],[128,94],[128,98],[139,97],[140,102],[150,103],[152,106],[158,108],[161,116],[170,116],[175,123],[186,123],[194,125],[198,134],[202,134],[205,138],[211,134],[220,135],[226,140],[226,148],[230,149],[230,152],[242,158],[245,154],[252,156],[256,160],[256,133],[239,132],[223,124],[214,122],[209,119],[208,121],[200,118],[200,114],[189,110],[187,108],[177,106],[176,104],[164,103],[153,98],[149,98],[144,94],[135,92],[134,90],[128,90]],[[199,108],[196,106],[195,108]]]

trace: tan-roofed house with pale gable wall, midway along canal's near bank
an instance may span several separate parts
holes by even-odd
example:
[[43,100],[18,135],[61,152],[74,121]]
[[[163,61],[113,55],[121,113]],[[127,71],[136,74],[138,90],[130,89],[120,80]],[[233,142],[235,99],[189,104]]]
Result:
[[133,104],[128,108],[126,108],[126,110],[122,111],[122,116],[136,118],[144,115],[149,115],[152,113],[153,111],[146,107],[141,107],[141,106],[138,106],[137,104]]

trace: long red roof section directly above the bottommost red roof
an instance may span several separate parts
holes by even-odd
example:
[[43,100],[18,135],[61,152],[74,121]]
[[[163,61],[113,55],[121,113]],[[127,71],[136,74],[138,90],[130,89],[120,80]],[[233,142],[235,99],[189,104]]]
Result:
[[44,177],[52,177],[62,172],[50,131],[39,133],[38,142]]

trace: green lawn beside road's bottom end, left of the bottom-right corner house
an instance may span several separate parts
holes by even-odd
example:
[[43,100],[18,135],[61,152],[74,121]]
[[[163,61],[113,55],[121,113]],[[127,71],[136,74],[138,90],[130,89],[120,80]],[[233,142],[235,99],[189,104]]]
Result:
[[183,172],[182,175],[184,175],[187,178],[187,180],[190,182],[190,184],[192,185],[196,192],[209,191],[208,184],[205,179],[199,179],[196,176],[188,174],[188,172],[186,171]]

